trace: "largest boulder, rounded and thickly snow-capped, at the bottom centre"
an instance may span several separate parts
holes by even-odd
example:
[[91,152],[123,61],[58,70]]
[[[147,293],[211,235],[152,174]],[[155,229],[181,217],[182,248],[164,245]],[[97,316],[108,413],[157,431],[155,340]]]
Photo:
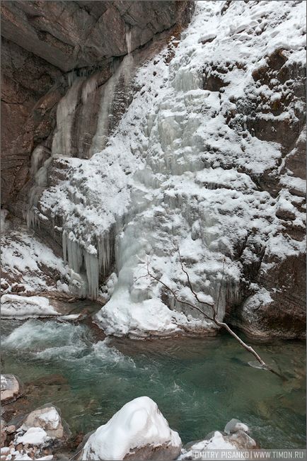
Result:
[[181,440],[157,404],[138,397],[88,438],[79,460],[175,460]]

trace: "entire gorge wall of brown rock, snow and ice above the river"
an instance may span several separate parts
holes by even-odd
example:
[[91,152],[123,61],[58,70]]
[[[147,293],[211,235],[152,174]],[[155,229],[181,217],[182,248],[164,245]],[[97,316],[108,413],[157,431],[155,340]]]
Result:
[[221,318],[301,338],[304,2],[195,4],[185,30],[185,1],[3,5],[4,206],[108,334],[212,330],[144,276],[190,302],[179,247]]

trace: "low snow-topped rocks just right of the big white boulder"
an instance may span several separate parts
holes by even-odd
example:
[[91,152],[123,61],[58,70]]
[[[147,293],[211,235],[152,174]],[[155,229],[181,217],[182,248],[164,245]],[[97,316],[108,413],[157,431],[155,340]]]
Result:
[[224,433],[214,431],[204,440],[188,443],[178,460],[202,459],[202,452],[206,450],[253,450],[257,448],[257,443],[248,432],[249,428],[245,423],[241,423],[238,419],[231,419],[226,424]]

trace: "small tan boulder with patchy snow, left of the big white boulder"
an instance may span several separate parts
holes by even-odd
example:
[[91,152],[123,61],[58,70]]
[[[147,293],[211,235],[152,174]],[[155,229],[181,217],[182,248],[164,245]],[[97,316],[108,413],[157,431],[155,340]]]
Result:
[[41,428],[52,439],[64,437],[64,427],[59,411],[51,405],[31,411],[23,421],[21,428],[25,431],[30,428]]

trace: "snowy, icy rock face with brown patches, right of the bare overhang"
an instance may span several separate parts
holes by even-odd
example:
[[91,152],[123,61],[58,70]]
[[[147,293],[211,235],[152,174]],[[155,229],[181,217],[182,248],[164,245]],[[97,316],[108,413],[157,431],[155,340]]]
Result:
[[62,222],[64,259],[90,297],[115,265],[97,318],[108,334],[212,329],[146,278],[150,263],[194,302],[179,247],[220,319],[227,309],[251,333],[303,335],[304,14],[303,2],[197,1],[181,40],[137,72],[107,147],[67,160],[66,181],[42,193],[37,210]]

